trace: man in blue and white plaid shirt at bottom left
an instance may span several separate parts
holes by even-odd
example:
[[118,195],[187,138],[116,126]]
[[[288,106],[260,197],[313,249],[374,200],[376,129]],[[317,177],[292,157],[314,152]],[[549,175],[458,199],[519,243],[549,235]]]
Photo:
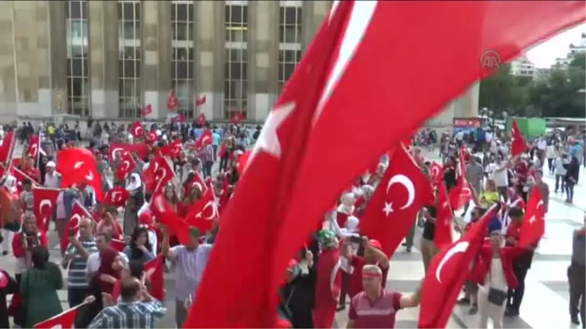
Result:
[[88,329],[154,329],[167,311],[135,277],[122,281],[120,297],[118,304],[103,309]]

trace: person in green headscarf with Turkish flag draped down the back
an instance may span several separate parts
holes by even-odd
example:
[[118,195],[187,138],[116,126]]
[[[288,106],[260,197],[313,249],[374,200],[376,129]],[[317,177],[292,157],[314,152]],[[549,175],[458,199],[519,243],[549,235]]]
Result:
[[322,252],[316,264],[314,327],[331,329],[340,297],[340,249],[334,232],[322,229],[318,233]]

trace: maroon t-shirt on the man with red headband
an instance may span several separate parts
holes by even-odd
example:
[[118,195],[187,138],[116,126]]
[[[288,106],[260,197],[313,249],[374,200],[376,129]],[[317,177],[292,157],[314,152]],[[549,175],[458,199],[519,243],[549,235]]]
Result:
[[361,292],[350,301],[348,318],[354,321],[354,329],[392,329],[397,311],[401,309],[401,294],[381,292],[377,300],[370,300]]

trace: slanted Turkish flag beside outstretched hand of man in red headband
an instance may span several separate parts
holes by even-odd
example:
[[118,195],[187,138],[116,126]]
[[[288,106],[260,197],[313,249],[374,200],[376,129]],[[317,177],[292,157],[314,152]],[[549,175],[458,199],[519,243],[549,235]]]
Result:
[[496,205],[493,205],[458,241],[442,249],[431,260],[421,287],[418,328],[446,327],[462,285],[470,273],[470,264],[486,237],[488,222],[495,214]]

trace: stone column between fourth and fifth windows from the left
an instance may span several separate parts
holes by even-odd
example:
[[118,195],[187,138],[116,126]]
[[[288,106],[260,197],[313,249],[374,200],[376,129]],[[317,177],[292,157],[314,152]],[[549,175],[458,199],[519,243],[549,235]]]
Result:
[[[264,121],[278,93],[279,2],[248,2],[248,118]],[[270,28],[269,28],[270,27]]]

